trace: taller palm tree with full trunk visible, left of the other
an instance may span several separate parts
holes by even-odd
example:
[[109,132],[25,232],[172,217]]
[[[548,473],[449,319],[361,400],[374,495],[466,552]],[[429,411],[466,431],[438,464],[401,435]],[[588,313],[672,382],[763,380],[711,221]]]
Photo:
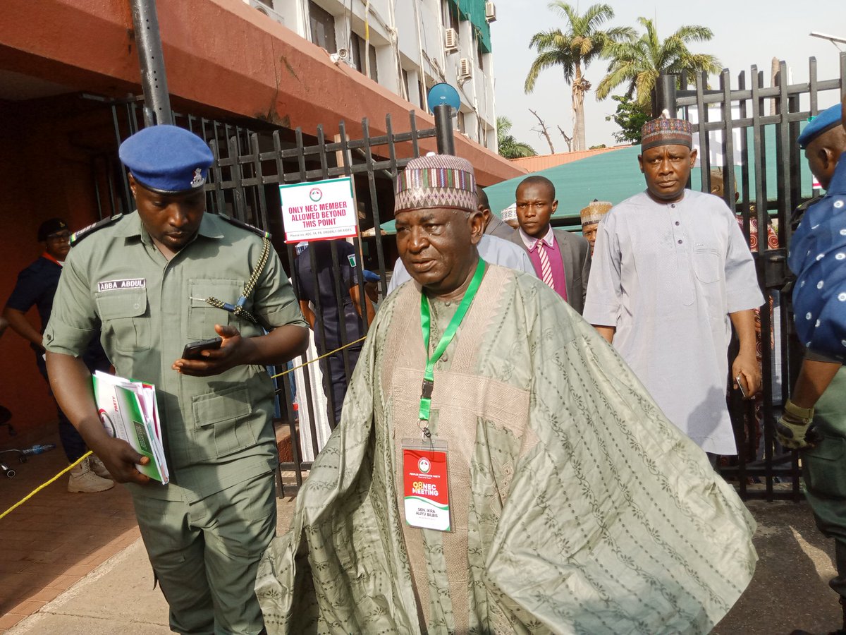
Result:
[[614,17],[610,4],[593,4],[581,15],[563,0],[549,3],[549,8],[567,19],[567,30],[540,31],[532,36],[529,47],[537,49],[537,57],[526,75],[525,92],[535,90],[542,70],[560,66],[573,95],[573,149],[585,150],[585,92],[591,90],[591,82],[585,79],[582,70],[586,70],[609,43],[634,38],[634,29],[629,26],[599,29]]

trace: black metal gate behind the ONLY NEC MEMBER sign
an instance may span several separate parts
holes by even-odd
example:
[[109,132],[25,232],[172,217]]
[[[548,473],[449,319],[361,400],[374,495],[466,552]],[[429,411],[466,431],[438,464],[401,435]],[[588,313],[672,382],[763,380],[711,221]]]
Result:
[[[98,101],[97,97],[86,96]],[[124,100],[109,101],[113,126],[118,144],[129,135],[143,127],[143,98],[129,97]],[[358,310],[364,328],[367,324],[365,307],[364,270],[368,269],[379,276],[379,290],[384,296],[387,292],[387,272],[393,270],[396,248],[392,236],[381,229],[383,223],[393,219],[393,179],[398,171],[405,167],[411,158],[420,156],[419,141],[438,136],[437,128],[419,130],[414,111],[409,113],[409,120],[404,131],[393,130],[390,115],[385,118],[384,135],[371,135],[367,119],[361,122],[360,138],[349,138],[346,126],[338,125],[338,135],[327,139],[319,126],[316,135],[306,135],[301,129],[288,130],[262,122],[250,120],[221,121],[192,115],[173,113],[174,123],[201,136],[211,147],[215,163],[210,170],[210,179],[206,184],[206,208],[210,212],[225,213],[245,223],[253,224],[270,231],[272,242],[291,277],[295,295],[302,297],[302,280],[295,274],[297,253],[293,244],[284,242],[279,185],[302,183],[320,179],[349,176],[354,183],[354,200],[359,212],[360,235],[351,240],[355,257],[355,283],[358,288],[360,305]],[[257,127],[259,127],[257,129]],[[447,134],[447,133],[445,133]],[[451,131],[448,131],[451,135]],[[98,213],[100,217],[113,213],[125,213],[135,208],[129,191],[126,172],[118,161],[117,153],[101,157],[95,170]],[[103,174],[107,178],[103,178]],[[330,246],[324,257],[331,260],[332,290],[311,298],[312,310],[316,315],[314,340],[316,350],[327,350],[327,335],[324,328],[324,315],[332,303],[349,306],[350,289],[343,284],[343,254],[339,253],[338,241],[329,241]],[[349,249],[349,248],[345,248]],[[318,268],[316,249],[305,250],[310,259],[311,272]],[[304,252],[305,253],[305,252]],[[323,263],[325,266],[325,263]],[[316,280],[310,286],[316,287]],[[341,322],[340,345],[349,345],[348,329],[344,328],[343,312],[339,312]],[[343,349],[343,376],[347,382],[354,369],[354,359],[350,359],[350,349]],[[313,361],[306,355],[298,361],[288,364],[288,370]],[[323,367],[325,362],[318,362]],[[316,364],[314,366],[317,366]],[[323,370],[326,368],[323,367]],[[275,373],[286,369],[277,367]],[[315,375],[311,368],[299,369],[297,384],[290,381],[292,374],[276,379],[277,395],[280,396],[281,411],[277,412],[277,424],[287,428],[287,439],[280,441],[280,474],[289,474],[297,487],[302,484],[303,472],[310,469],[313,457],[322,448],[327,436],[321,430],[321,422],[328,420],[331,431],[334,421],[331,415],[323,417],[322,408],[317,401],[323,390],[315,385]],[[296,371],[295,371],[296,372]],[[299,385],[297,399],[294,400],[294,387]],[[331,390],[326,391],[327,413],[336,405]],[[294,409],[294,403],[298,408]],[[325,427],[325,423],[324,423]],[[303,451],[305,450],[305,452]],[[304,456],[305,455],[305,456]],[[284,480],[280,479],[284,487]],[[283,491],[283,490],[282,490]]]

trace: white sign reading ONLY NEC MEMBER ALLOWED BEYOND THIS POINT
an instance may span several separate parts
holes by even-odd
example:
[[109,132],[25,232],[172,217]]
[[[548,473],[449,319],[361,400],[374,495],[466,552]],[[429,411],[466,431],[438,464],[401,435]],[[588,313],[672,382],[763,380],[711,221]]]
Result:
[[285,242],[330,240],[355,235],[358,213],[352,179],[279,185]]

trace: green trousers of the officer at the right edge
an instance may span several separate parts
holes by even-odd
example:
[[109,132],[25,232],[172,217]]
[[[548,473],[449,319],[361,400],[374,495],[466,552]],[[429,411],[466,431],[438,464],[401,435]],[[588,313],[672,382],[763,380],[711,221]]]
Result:
[[846,597],[846,367],[816,402],[814,425],[823,438],[802,453],[805,495],[816,526],[835,541],[838,575],[829,586]]

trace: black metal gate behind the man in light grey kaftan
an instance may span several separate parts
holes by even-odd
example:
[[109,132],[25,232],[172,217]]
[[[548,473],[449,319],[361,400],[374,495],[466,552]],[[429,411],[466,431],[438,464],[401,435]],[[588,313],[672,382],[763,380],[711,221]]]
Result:
[[[840,54],[837,79],[819,80],[815,58],[809,60],[805,83],[788,85],[784,62],[779,65],[775,86],[764,86],[764,74],[755,66],[749,78],[747,82],[741,72],[732,88],[731,75],[724,69],[719,88],[709,90],[705,76],[697,76],[695,87],[689,89],[686,75],[662,75],[653,110],[660,113],[666,108],[671,115],[681,111],[681,117],[694,123],[701,174],[694,187],[711,191],[711,168],[721,166],[725,202],[738,214],[750,245],[756,242],[758,246],[753,256],[765,296],[759,343],[763,390],[757,406],[729,391],[738,460],[719,470],[726,478],[737,479],[744,499],[799,500],[799,455],[777,444],[773,427],[803,355],[794,335],[789,287],[785,288],[790,279],[787,251],[795,229],[791,215],[801,203],[819,196],[819,190],[811,188],[810,171],[796,138],[801,123],[818,113],[821,94],[839,101],[846,86],[846,53]],[[771,229],[777,237],[775,246],[768,245]],[[735,352],[729,352],[730,359]],[[762,481],[763,488],[750,487],[750,480]]]

